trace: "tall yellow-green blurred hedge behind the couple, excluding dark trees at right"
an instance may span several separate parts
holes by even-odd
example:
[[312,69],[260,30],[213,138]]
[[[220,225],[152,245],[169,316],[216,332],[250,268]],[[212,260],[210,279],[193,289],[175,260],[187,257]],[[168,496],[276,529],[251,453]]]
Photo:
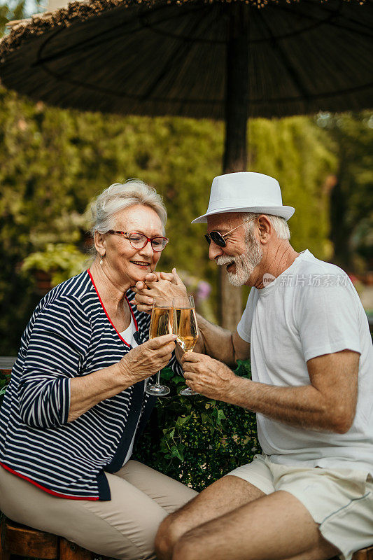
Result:
[[[349,117],[346,117],[349,119]],[[62,111],[0,90],[0,352],[15,353],[37,296],[24,258],[50,244],[87,246],[92,197],[115,181],[139,177],[163,195],[171,243],[162,255],[172,266],[206,279],[216,296],[203,214],[211,179],[220,173],[223,123],[183,118],[104,116]],[[279,179],[297,250],[330,257],[328,192],[337,169],[335,143],[313,118],[253,120],[249,168]],[[61,247],[61,245],[59,245]],[[50,251],[50,249],[48,249]]]

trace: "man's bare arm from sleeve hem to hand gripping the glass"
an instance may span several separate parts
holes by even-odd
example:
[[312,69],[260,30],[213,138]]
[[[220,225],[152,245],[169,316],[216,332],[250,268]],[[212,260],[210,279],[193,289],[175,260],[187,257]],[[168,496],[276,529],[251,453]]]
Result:
[[344,350],[311,358],[309,384],[267,385],[235,375],[229,367],[197,353],[183,356],[187,384],[207,398],[259,412],[297,428],[346,433],[358,399],[360,355]]

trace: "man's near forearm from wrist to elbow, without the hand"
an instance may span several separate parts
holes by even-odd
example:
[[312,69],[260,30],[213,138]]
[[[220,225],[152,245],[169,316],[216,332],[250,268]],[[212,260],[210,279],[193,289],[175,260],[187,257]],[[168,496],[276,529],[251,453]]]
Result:
[[343,407],[326,402],[312,385],[279,387],[234,377],[220,400],[260,412],[297,428],[345,433],[349,429]]

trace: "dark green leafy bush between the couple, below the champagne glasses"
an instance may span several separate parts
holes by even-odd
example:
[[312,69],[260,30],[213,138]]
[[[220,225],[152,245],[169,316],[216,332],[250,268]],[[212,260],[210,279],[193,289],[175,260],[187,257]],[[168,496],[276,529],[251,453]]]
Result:
[[[239,362],[235,373],[250,377],[250,363]],[[0,403],[8,377],[0,374]],[[171,388],[158,399],[134,458],[201,491],[260,452],[253,412],[199,395],[178,395],[183,377],[169,368],[162,379]]]

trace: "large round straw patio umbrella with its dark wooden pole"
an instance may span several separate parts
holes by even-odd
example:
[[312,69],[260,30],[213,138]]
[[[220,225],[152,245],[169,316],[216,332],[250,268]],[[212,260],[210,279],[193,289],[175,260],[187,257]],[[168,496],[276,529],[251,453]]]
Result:
[[249,117],[372,106],[372,21],[371,0],[73,2],[10,25],[0,78],[61,107],[223,119],[223,172],[242,171]]

